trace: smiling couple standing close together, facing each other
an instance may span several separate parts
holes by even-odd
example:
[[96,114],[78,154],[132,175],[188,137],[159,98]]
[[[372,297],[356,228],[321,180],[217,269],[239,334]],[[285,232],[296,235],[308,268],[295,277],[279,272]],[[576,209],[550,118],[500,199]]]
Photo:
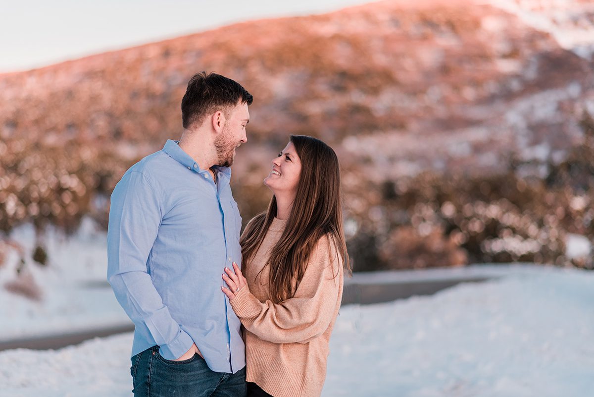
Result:
[[[349,269],[334,151],[291,136],[241,217],[229,179],[252,96],[200,73],[184,133],[132,166],[111,197],[108,280],[135,324],[135,396],[319,396]],[[243,325],[243,330],[241,326]]]

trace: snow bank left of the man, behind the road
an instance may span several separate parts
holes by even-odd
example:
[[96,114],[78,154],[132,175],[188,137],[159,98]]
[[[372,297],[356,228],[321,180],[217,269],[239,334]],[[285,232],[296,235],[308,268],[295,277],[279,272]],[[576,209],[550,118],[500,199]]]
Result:
[[[11,239],[26,253],[34,247],[31,225],[21,226]],[[41,301],[15,295],[4,288],[14,281],[20,257],[9,251],[0,267],[0,341],[58,335],[131,324],[106,282],[106,234],[85,219],[72,237],[49,230],[45,237],[49,263],[43,267],[26,255],[26,272],[33,275]]]

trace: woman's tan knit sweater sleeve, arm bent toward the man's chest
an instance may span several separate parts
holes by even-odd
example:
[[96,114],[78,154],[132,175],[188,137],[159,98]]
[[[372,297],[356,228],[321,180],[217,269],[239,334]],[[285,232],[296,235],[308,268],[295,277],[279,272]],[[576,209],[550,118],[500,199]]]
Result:
[[262,303],[244,286],[230,301],[249,332],[285,344],[305,343],[328,329],[342,288],[342,262],[336,249],[328,250],[327,237],[320,239],[311,258],[292,298]]

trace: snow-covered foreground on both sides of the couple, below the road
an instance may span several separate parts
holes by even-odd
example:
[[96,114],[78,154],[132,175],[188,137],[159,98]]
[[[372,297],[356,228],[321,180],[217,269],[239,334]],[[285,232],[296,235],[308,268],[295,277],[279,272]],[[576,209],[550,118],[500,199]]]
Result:
[[[592,396],[593,301],[593,272],[543,267],[343,307],[323,396]],[[0,352],[0,396],[129,397],[131,341]]]

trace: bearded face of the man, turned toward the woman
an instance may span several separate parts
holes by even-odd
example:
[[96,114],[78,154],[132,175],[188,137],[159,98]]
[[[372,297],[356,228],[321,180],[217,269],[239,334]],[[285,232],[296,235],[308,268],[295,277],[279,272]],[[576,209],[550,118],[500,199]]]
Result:
[[229,112],[223,125],[222,133],[214,141],[219,162],[217,165],[230,167],[235,158],[235,148],[248,141],[245,134],[245,126],[249,122],[249,111],[247,103],[239,103]]

